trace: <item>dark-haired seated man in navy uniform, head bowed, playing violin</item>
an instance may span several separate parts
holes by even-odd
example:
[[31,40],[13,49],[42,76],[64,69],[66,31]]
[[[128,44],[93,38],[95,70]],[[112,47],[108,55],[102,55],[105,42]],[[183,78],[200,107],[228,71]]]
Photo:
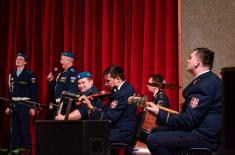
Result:
[[134,88],[125,80],[120,66],[110,66],[104,72],[106,85],[113,90],[109,102],[102,108],[91,104],[86,96],[80,97],[91,111],[90,119],[110,120],[110,142],[133,143],[136,129],[136,110],[134,104],[128,104],[128,97],[133,96]]

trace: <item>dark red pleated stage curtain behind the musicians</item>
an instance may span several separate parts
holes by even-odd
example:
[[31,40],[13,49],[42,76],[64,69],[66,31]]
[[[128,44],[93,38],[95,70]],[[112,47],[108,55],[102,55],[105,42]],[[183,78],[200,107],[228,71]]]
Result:
[[[15,56],[29,56],[28,69],[39,83],[39,102],[48,102],[47,74],[60,66],[60,53],[75,54],[75,68],[90,71],[102,89],[102,72],[111,64],[125,69],[139,94],[152,73],[178,83],[177,0],[1,0],[0,96],[7,97]],[[178,108],[177,90],[167,90]],[[1,143],[9,118],[1,103]]]

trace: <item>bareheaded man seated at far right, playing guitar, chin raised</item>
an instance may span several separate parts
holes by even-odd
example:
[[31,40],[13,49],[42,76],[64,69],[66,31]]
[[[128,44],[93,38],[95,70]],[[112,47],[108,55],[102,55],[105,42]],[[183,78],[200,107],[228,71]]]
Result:
[[221,80],[212,73],[214,52],[207,48],[193,50],[187,70],[194,76],[184,89],[184,109],[171,114],[151,103],[147,109],[171,130],[152,133],[147,146],[153,155],[170,155],[175,151],[206,147],[215,151],[221,129]]

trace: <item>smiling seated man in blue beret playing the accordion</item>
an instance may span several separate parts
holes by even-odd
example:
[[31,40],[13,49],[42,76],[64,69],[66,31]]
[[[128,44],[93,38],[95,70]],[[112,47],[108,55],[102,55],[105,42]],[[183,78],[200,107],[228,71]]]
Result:
[[[92,74],[90,72],[81,72],[77,76],[78,88],[81,93],[86,96],[98,93],[98,89],[93,85]],[[100,99],[92,100],[91,104],[97,108],[102,107],[102,102]],[[65,116],[59,114],[56,116],[56,120],[64,120]],[[88,109],[83,105],[75,107],[74,110],[69,114],[69,120],[80,120],[88,118]]]

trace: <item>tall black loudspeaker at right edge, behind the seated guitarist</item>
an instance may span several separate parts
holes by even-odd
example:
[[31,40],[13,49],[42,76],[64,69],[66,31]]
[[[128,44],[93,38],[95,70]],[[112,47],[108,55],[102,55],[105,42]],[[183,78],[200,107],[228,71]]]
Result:
[[235,154],[235,67],[222,69],[223,134],[226,155]]

